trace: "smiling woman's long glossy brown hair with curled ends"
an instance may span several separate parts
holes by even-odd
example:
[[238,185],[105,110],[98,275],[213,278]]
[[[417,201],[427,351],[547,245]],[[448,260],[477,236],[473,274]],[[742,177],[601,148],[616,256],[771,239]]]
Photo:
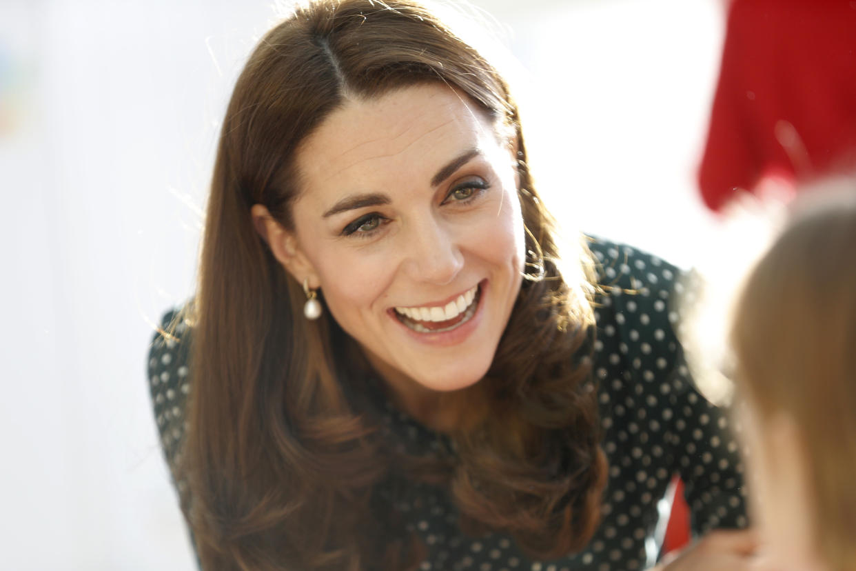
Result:
[[[424,82],[465,93],[511,134],[530,263],[486,378],[448,396],[481,411],[451,434],[455,457],[402,461],[365,397],[372,373],[354,342],[329,317],[303,318],[300,285],[260,239],[250,209],[265,205],[292,229],[301,141],[348,97]],[[578,271],[566,279],[508,86],[435,15],[408,0],[324,0],[274,27],[226,112],[188,310],[193,390],[179,469],[203,566],[412,568],[419,545],[373,493],[396,474],[449,485],[473,532],[508,532],[542,556],[585,545],[606,466],[590,374],[591,293],[579,271],[590,259],[584,247],[569,256]]]

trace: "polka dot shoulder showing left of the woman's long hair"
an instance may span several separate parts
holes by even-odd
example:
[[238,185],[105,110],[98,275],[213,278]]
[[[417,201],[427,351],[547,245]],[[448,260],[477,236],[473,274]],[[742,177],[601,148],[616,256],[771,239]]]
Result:
[[148,383],[163,453],[173,467],[185,431],[191,328],[180,309],[166,312],[149,345]]

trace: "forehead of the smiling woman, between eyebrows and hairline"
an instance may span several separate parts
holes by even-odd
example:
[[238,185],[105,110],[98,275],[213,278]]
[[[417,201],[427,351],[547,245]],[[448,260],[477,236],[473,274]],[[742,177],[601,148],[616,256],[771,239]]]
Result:
[[467,96],[419,85],[348,100],[300,146],[297,166],[304,190],[377,190],[389,177],[430,178],[462,151],[499,147],[490,118]]

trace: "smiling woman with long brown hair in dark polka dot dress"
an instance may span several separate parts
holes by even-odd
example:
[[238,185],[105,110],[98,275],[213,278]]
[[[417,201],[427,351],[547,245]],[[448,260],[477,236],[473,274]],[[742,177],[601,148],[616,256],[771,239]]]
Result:
[[[675,269],[591,248],[597,277],[560,257],[508,86],[430,12],[325,1],[271,30],[150,360],[202,567],[643,568],[675,472],[698,532],[743,524]],[[738,568],[726,537],[681,561]]]

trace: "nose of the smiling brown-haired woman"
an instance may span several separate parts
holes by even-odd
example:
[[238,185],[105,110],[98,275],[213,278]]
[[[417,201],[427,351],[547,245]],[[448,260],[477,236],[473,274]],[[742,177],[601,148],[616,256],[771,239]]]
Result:
[[401,247],[405,250],[405,271],[416,282],[452,283],[464,267],[454,227],[436,217],[413,223]]

